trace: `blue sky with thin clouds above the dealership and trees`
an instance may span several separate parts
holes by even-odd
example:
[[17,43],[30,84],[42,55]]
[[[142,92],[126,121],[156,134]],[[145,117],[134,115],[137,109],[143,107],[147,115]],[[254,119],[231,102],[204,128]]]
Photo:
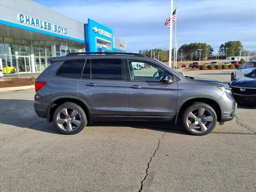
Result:
[[[163,23],[170,15],[170,0],[34,2],[80,22],[91,18],[111,28],[114,36],[126,41],[128,52],[169,48],[169,31]],[[256,1],[174,0],[175,5],[178,46],[206,42],[216,51],[224,42],[239,40],[245,49],[256,50]]]

